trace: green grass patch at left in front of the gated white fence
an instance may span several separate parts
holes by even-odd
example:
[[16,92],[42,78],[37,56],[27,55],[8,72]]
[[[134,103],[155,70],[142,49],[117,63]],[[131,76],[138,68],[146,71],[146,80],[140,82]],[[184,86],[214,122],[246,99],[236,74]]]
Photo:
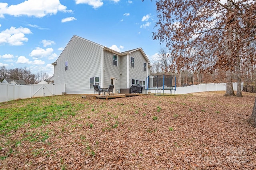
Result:
[[[52,102],[45,103],[47,98]],[[24,104],[28,100],[29,104]],[[6,135],[25,124],[30,124],[30,127],[48,125],[52,121],[75,116],[77,111],[84,109],[82,104],[73,105],[70,101],[58,101],[53,97],[26,99],[16,103],[15,107],[0,109],[0,134]]]

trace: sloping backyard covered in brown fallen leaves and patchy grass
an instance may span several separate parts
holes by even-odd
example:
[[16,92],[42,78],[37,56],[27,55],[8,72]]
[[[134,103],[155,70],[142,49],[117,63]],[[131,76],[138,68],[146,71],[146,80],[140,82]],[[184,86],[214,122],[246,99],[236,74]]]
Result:
[[255,169],[255,93],[0,103],[0,169]]

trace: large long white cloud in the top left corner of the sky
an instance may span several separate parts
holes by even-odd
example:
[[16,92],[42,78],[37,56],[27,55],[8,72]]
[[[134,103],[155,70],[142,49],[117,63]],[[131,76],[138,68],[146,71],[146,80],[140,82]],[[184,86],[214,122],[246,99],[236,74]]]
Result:
[[5,14],[13,16],[35,16],[37,18],[46,15],[55,15],[58,11],[72,12],[66,10],[66,6],[60,4],[60,0],[26,0],[17,5],[8,6],[7,3],[0,3],[0,17]]

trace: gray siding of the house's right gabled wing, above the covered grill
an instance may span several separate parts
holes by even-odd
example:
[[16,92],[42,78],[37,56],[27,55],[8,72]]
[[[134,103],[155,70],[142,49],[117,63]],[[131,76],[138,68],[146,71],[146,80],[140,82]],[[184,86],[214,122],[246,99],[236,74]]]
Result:
[[[134,57],[134,68],[130,67],[130,57]],[[132,79],[146,81],[147,71],[143,71],[143,63],[148,63],[142,53],[137,50],[129,56],[129,85],[132,85]]]

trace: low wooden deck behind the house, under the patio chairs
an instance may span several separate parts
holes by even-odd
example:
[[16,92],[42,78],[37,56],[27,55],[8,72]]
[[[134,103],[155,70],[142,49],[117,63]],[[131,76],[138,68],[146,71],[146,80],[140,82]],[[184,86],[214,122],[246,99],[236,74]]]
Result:
[[132,97],[132,96],[142,96],[142,95],[147,95],[147,94],[142,94],[142,93],[127,93],[127,94],[114,94],[114,95],[82,95],[82,98],[86,98],[89,100],[92,99],[116,99],[120,97]]

